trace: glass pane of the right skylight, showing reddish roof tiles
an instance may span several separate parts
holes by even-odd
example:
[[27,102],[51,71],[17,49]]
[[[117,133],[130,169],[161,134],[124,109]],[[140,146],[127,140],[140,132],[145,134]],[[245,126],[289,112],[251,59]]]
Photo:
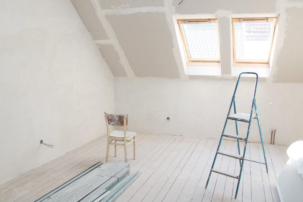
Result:
[[235,23],[236,59],[267,60],[273,22]]

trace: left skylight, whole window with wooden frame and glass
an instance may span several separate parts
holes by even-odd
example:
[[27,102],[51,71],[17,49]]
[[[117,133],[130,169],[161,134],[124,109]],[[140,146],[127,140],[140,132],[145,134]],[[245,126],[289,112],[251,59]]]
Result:
[[220,62],[217,19],[178,20],[188,65]]

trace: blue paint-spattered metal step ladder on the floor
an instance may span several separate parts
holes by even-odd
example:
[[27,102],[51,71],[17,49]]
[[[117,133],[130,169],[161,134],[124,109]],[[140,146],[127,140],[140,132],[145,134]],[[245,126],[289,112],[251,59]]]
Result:
[[[236,94],[236,91],[237,91],[237,88],[238,88],[238,84],[239,84],[239,80],[240,80],[240,77],[241,77],[242,74],[254,74],[257,77],[256,78],[256,83],[255,83],[255,91],[254,91],[254,97],[252,99],[252,105],[251,105],[251,112],[250,112],[250,114],[243,114],[243,113],[237,113],[236,112],[235,94]],[[223,128],[223,132],[221,134],[221,138],[220,138],[220,141],[219,141],[217,152],[215,154],[215,158],[214,158],[214,161],[212,163],[211,170],[209,172],[209,176],[208,176],[205,188],[207,188],[207,185],[208,185],[208,182],[209,182],[209,179],[210,179],[210,176],[211,176],[211,172],[215,172],[215,173],[218,173],[218,174],[226,175],[228,177],[233,177],[235,179],[238,179],[238,185],[237,185],[236,194],[235,194],[235,198],[237,198],[239,184],[240,184],[240,179],[241,179],[241,174],[242,174],[242,170],[243,170],[244,160],[252,161],[252,162],[256,162],[256,163],[260,163],[260,164],[265,164],[266,171],[268,173],[268,167],[267,167],[267,161],[266,161],[266,156],[265,156],[265,150],[264,150],[264,144],[263,144],[261,126],[260,126],[260,121],[259,121],[259,116],[258,116],[258,111],[257,111],[257,105],[256,105],[256,99],[255,99],[256,89],[257,89],[257,83],[258,83],[258,74],[254,73],[254,72],[243,72],[238,77],[238,81],[237,81],[237,84],[236,84],[234,95],[232,96],[232,100],[231,100],[231,103],[230,103],[230,107],[229,107],[228,114],[227,114],[226,121],[225,121],[224,128]],[[235,112],[235,114],[229,115],[230,111],[231,111],[232,105],[234,105],[234,112]],[[254,108],[255,108],[255,111],[256,111],[256,115],[252,114]],[[236,135],[225,133],[225,127],[226,127],[228,119],[235,120],[236,133],[237,133]],[[258,161],[253,161],[253,160],[249,160],[249,159],[245,159],[246,145],[247,145],[247,141],[248,141],[249,129],[250,129],[250,125],[251,125],[251,120],[252,119],[257,119],[258,120],[258,126],[259,126],[259,131],[260,131],[260,137],[261,137],[261,143],[262,143],[262,148],[263,148],[263,154],[264,154],[265,163],[258,162]],[[246,137],[245,136],[239,136],[237,121],[242,121],[242,122],[248,123],[248,130],[247,130]],[[229,152],[226,152],[226,151],[219,150],[221,142],[222,142],[222,137],[229,137],[229,138],[237,139],[237,141],[238,141],[238,154],[232,154],[232,153],[229,153]],[[239,140],[245,141],[243,155],[241,155],[241,153],[240,153]],[[216,158],[217,158],[218,154],[221,154],[221,155],[224,155],[224,156],[228,156],[228,157],[232,157],[232,158],[235,158],[235,159],[239,159],[239,161],[240,161],[240,167],[241,167],[240,168],[240,173],[236,174],[236,173],[222,171],[222,170],[214,168],[215,161],[216,161]]]

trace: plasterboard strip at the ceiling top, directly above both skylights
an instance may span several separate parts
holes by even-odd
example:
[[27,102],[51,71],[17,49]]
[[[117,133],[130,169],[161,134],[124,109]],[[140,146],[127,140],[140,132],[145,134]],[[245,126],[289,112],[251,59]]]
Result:
[[255,1],[197,1],[184,0],[178,5],[181,0],[173,0],[175,13],[180,14],[204,14],[216,13],[218,10],[227,10],[233,13],[266,13],[276,11],[276,0],[255,0]]

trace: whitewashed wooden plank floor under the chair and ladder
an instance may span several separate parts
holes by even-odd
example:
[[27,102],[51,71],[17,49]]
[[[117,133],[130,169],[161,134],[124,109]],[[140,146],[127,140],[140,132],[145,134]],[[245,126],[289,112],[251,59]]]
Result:
[[[243,144],[243,143],[242,143]],[[117,202],[126,201],[279,201],[275,179],[288,160],[286,146],[265,145],[269,173],[265,165],[245,161],[238,197],[234,199],[237,180],[211,174],[205,183],[218,146],[216,139],[138,133],[136,159],[128,146],[131,172],[142,175]],[[222,141],[221,148],[236,151],[236,141]],[[34,201],[63,184],[98,161],[105,162],[106,137],[100,137],[57,159],[0,185],[0,201]],[[123,147],[117,157],[110,150],[110,161],[124,161]],[[263,161],[262,147],[249,143],[247,158]],[[215,167],[239,171],[239,161],[218,155]]]

